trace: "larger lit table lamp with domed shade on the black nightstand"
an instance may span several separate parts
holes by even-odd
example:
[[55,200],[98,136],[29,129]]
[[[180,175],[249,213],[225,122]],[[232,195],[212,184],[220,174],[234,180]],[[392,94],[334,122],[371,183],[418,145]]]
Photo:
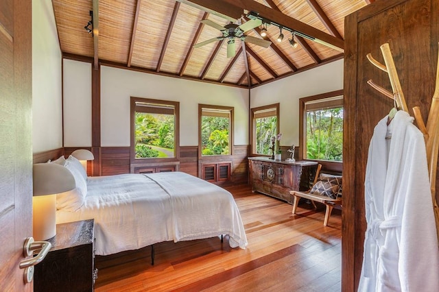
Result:
[[42,241],[56,235],[56,194],[73,190],[75,178],[62,165],[37,163],[33,169],[34,239]]

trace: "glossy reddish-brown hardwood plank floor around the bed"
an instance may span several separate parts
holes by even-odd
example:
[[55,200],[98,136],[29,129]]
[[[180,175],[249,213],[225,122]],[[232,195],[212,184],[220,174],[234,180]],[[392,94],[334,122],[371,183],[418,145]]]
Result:
[[96,256],[95,291],[340,291],[342,215],[333,210],[323,226],[324,206],[292,206],[248,185],[233,194],[246,228],[246,250],[227,237],[165,242],[111,256]]

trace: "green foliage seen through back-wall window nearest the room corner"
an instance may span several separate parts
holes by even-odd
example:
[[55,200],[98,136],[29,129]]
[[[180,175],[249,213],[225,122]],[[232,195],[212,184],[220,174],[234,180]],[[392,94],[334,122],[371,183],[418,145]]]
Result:
[[230,119],[202,116],[201,124],[202,155],[228,155]]

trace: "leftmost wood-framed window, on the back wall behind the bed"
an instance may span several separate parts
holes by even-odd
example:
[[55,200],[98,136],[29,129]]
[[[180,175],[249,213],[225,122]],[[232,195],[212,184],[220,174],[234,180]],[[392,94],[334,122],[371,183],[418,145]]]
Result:
[[131,158],[178,158],[179,103],[131,97]]

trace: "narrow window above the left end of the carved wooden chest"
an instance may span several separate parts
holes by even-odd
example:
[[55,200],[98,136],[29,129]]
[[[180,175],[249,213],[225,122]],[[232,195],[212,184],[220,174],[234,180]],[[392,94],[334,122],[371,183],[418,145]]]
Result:
[[271,155],[271,138],[278,134],[279,104],[251,109],[250,141],[252,154]]

